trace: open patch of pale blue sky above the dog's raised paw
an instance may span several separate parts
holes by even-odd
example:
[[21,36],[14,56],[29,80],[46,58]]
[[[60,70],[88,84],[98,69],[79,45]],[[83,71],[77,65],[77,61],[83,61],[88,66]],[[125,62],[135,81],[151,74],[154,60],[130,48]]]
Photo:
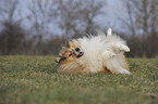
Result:
[[[112,27],[117,31],[123,31],[123,24],[119,20],[119,17],[125,20],[126,18],[126,11],[123,6],[123,3],[121,0],[107,0],[107,6],[105,6],[106,16],[100,16],[98,20],[99,24],[102,24],[104,26],[109,25],[109,27]],[[105,21],[106,20],[106,21]]]

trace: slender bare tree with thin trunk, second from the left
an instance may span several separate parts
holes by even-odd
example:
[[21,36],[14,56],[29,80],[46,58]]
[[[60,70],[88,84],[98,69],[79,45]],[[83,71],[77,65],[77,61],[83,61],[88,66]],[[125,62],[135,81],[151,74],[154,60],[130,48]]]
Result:
[[32,0],[28,6],[31,15],[27,17],[33,22],[32,31],[37,36],[38,53],[42,52],[42,38],[49,34],[51,16],[49,15],[53,5],[52,0]]

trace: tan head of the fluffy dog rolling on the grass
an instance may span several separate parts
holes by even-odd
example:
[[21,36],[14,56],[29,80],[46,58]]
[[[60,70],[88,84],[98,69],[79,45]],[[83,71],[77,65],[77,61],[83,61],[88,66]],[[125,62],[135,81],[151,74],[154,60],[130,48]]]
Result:
[[66,48],[62,47],[61,52],[59,53],[59,57],[56,58],[56,62],[59,63],[61,61],[75,61],[76,58],[83,56],[84,52],[81,51],[80,48]]

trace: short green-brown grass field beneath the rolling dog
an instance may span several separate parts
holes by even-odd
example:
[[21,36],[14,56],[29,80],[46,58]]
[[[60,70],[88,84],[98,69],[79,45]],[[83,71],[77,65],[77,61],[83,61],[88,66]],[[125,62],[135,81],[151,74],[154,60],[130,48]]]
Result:
[[132,75],[60,75],[53,56],[0,56],[0,104],[158,104],[158,58]]

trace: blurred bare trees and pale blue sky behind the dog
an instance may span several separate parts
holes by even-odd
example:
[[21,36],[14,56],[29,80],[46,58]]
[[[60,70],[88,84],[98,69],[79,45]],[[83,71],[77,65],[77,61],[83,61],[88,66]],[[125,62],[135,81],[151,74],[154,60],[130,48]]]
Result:
[[0,0],[0,55],[57,55],[111,27],[130,57],[158,57],[158,0]]

